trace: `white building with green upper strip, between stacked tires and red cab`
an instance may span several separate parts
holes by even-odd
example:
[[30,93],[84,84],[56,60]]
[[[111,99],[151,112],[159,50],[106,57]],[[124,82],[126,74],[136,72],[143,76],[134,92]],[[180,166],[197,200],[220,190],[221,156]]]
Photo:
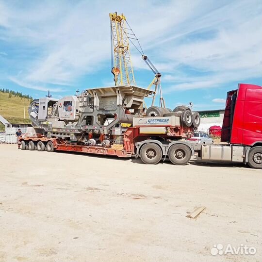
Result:
[[225,109],[197,111],[201,121],[198,128],[199,131],[208,132],[212,126],[222,127]]

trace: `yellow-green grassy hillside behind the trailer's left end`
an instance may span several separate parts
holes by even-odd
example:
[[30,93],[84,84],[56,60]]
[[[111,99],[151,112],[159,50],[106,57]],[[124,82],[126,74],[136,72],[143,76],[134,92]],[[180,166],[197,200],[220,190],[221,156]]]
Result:
[[31,99],[28,98],[21,98],[10,93],[0,92],[0,115],[10,123],[31,124],[28,117],[30,101]]

